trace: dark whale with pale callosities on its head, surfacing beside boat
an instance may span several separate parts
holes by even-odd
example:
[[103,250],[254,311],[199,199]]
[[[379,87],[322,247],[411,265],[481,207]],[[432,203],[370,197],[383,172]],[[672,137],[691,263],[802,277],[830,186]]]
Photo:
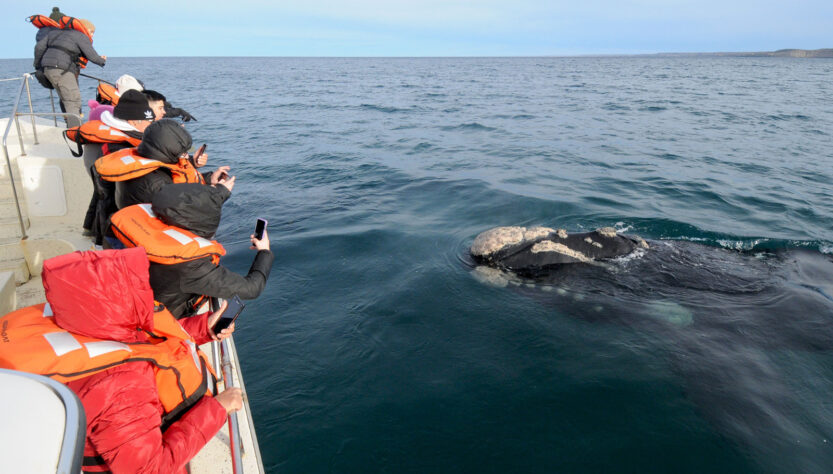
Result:
[[833,256],[521,226],[481,232],[468,253],[475,280],[528,297],[541,317],[637,338],[752,458],[783,472],[833,462]]

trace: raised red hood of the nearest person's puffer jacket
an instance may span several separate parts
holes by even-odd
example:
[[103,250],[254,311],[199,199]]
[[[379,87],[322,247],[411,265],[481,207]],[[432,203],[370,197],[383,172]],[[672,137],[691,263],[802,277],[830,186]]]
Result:
[[143,247],[73,252],[43,262],[43,288],[55,323],[76,334],[120,342],[153,330],[153,290]]

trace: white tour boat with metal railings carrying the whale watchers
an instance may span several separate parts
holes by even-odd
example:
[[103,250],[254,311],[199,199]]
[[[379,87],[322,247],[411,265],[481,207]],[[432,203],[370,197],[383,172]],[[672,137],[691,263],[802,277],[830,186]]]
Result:
[[[52,111],[36,112],[30,91],[32,76],[16,79],[20,87],[14,107],[8,117],[0,119],[5,158],[0,171],[2,315],[46,301],[40,277],[44,260],[93,249],[81,227],[92,182],[83,161],[72,156],[64,141],[63,123],[59,125],[59,119],[70,114],[55,111],[52,91]],[[24,99],[28,107],[21,107]],[[237,386],[245,394],[234,339],[205,344],[201,349],[213,361],[218,376],[223,374],[220,390],[223,385]],[[79,472],[82,456],[78,453],[84,446],[86,420],[72,391],[47,377],[0,370],[0,404],[14,415],[4,417],[0,428],[4,472]],[[228,430],[221,429],[209,441],[191,460],[189,471],[265,472],[253,421],[244,396],[243,409],[229,416]]]

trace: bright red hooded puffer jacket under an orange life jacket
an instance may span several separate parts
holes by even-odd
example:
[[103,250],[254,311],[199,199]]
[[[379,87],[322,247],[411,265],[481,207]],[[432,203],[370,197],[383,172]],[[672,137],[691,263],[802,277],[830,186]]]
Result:
[[[136,328],[153,327],[153,293],[141,247],[47,260],[43,282],[55,322],[73,333],[136,342],[142,337]],[[207,318],[180,324],[201,344],[210,339]],[[185,472],[226,419],[223,406],[207,396],[163,432],[163,409],[148,362],[123,363],[67,385],[87,415],[85,472]]]

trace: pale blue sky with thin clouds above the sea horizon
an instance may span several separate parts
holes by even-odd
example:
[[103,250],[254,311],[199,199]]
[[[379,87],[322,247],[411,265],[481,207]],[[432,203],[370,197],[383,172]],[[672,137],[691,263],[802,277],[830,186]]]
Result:
[[0,0],[0,58],[53,6],[149,56],[572,56],[833,48],[831,0]]

